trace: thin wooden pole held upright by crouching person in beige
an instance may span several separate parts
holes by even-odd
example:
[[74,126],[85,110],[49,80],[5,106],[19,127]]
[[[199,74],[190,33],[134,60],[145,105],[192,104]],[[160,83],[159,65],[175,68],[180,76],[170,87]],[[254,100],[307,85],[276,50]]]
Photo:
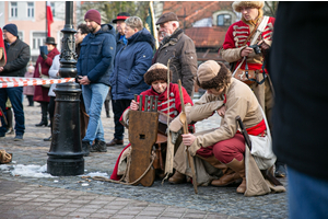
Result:
[[[186,116],[186,111],[185,111],[185,102],[184,102],[184,95],[183,95],[183,85],[181,85],[181,80],[178,79],[178,85],[179,85],[179,94],[180,94],[180,102],[181,102],[181,113],[180,113],[180,122],[183,124],[183,129],[184,129],[184,134],[188,134],[188,123],[187,123],[187,116]],[[187,147],[187,157],[188,157],[188,162],[191,169],[191,174],[192,174],[192,185],[194,185],[194,189],[195,193],[198,194],[198,189],[197,189],[197,177],[196,177],[196,171],[195,171],[195,164],[194,164],[194,159],[190,155],[189,151],[188,151],[188,147]]]

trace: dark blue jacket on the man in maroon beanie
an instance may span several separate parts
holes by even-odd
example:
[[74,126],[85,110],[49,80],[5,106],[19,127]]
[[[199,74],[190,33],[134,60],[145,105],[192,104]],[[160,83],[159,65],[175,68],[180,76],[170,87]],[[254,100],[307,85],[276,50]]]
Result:
[[97,33],[87,34],[81,43],[77,65],[79,76],[87,76],[92,83],[110,85],[115,51],[115,30],[110,24],[103,24]]

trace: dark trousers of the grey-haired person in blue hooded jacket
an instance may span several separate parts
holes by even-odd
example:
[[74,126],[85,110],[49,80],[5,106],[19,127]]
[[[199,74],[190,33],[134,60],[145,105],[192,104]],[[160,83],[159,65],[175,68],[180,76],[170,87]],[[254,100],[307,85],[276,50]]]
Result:
[[114,113],[114,124],[115,124],[115,132],[114,138],[118,140],[124,139],[125,127],[119,123],[119,118],[121,114],[125,112],[127,107],[130,106],[131,100],[113,100],[112,99],[112,107]]

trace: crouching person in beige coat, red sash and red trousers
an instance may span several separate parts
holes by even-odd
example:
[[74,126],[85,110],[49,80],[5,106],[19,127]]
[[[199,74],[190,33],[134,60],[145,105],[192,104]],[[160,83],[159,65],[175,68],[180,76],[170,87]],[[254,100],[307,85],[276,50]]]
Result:
[[[276,161],[270,148],[271,139],[269,143],[260,145],[267,149],[269,157],[266,160],[254,158],[245,147],[244,137],[236,123],[236,116],[239,116],[251,136],[266,138],[269,132],[253,91],[245,83],[232,78],[231,71],[223,64],[213,60],[199,66],[197,82],[207,92],[195,106],[186,107],[187,122],[202,120],[215,111],[222,116],[221,125],[216,129],[183,135],[183,143],[194,157],[197,183],[224,186],[239,180],[242,183],[237,193],[253,196],[271,192],[274,186],[267,183],[260,173],[260,168],[270,169]],[[169,129],[178,131],[180,127],[178,116],[171,123]],[[180,146],[175,154],[174,168],[176,172],[169,178],[171,183],[181,183],[185,175],[191,176],[184,146]],[[282,186],[276,186],[273,189],[284,191]]]

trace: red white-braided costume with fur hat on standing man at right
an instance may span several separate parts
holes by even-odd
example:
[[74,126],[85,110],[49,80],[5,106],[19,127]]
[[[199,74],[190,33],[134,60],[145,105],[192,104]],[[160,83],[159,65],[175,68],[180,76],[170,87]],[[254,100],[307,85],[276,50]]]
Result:
[[[248,36],[250,33],[256,28],[256,25],[261,22],[263,18],[263,2],[260,1],[236,1],[233,3],[233,8],[235,11],[241,12],[241,7],[254,7],[257,8],[259,11],[259,15],[256,20],[246,21],[244,18],[242,18],[241,21],[233,23],[226,34],[225,39],[223,43],[223,49],[221,49],[222,58],[227,62],[236,62],[236,67],[242,61],[241,51],[247,47],[250,46],[250,42],[253,37],[250,37],[248,41]],[[267,25],[263,30],[263,32],[260,34],[258,39],[255,44],[257,44],[259,41],[263,39],[266,44],[271,46],[272,44],[272,35],[273,35],[273,24],[274,24],[274,18],[269,18]],[[247,42],[246,42],[247,41]],[[247,65],[247,66],[246,66]],[[248,70],[256,70],[258,81],[262,79],[262,65],[263,65],[263,53],[261,54],[255,54],[253,51],[244,61],[244,64],[241,66],[241,69],[247,69]],[[232,69],[233,71],[234,69]],[[266,73],[267,70],[266,70]],[[266,112],[267,118],[270,123],[271,117],[271,110],[273,106],[273,96],[272,96],[272,88],[270,87],[269,80],[266,79],[265,83],[258,84],[253,83],[250,85],[251,90],[254,90],[255,95],[257,96],[260,105]]]

